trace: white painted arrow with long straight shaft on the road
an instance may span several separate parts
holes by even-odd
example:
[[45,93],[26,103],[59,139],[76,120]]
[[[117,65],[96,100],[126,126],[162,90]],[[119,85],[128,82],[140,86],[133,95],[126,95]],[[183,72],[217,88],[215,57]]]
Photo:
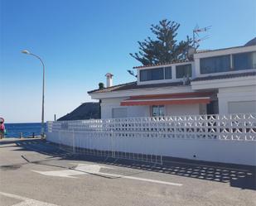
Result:
[[129,179],[129,180],[140,180],[140,181],[146,181],[146,182],[157,183],[157,184],[168,184],[168,185],[174,185],[174,186],[182,186],[182,184],[179,184],[179,183],[172,183],[172,182],[161,181],[161,180],[145,179],[145,178],[139,178],[139,177],[134,177],[134,176],[115,175],[115,174],[111,174],[111,173],[104,173],[104,172],[99,171],[101,168],[113,169],[113,168],[105,167],[105,166],[102,166],[102,165],[79,164],[75,167],[74,170],[55,170],[55,171],[36,171],[36,170],[32,170],[32,171],[34,171],[36,173],[39,173],[41,175],[47,175],[47,176],[59,176],[59,177],[76,178],[72,175],[93,174],[93,175],[106,175],[106,176],[111,176],[111,177]]

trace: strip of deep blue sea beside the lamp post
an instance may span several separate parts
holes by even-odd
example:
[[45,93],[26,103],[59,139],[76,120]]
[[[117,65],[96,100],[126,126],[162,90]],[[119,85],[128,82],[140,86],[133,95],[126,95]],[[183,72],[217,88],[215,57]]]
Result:
[[[7,134],[5,137],[32,137],[41,134],[41,123],[5,123]],[[45,124],[46,131],[46,124]]]

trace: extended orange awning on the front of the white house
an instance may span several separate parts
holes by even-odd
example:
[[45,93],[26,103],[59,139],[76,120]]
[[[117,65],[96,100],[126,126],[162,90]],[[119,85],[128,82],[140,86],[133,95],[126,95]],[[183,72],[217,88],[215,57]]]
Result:
[[167,104],[192,104],[210,103],[210,96],[213,93],[174,93],[133,96],[123,100],[121,106],[142,106],[142,105],[167,105]]

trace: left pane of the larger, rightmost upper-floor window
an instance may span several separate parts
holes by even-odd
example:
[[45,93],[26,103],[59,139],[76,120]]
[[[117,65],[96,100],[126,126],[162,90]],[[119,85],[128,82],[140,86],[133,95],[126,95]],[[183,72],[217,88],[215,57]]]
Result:
[[200,59],[200,74],[225,72],[230,70],[230,55],[220,55]]

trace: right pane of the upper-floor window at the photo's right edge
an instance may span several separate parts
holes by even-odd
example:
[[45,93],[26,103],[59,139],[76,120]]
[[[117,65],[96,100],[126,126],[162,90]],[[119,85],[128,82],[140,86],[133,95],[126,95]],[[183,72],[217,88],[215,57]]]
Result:
[[256,52],[233,55],[234,70],[256,69]]

